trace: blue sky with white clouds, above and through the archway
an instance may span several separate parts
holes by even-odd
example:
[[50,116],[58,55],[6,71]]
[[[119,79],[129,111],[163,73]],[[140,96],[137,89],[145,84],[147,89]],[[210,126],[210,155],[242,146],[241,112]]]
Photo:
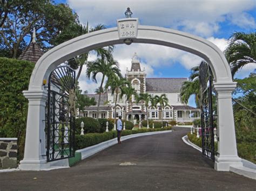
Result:
[[[234,31],[255,32],[256,0],[67,0],[77,12],[82,24],[90,26],[104,24],[116,26],[116,20],[124,18],[127,6],[133,17],[139,18],[142,25],[153,25],[176,29],[210,40],[224,51],[227,39]],[[199,65],[201,58],[177,49],[158,46],[132,44],[117,45],[114,59],[120,63],[122,73],[130,67],[131,58],[137,52],[148,77],[188,77],[190,68]],[[91,60],[95,55],[91,55]],[[235,77],[246,77],[255,65],[243,68]],[[84,68],[86,69],[86,67]],[[101,76],[98,76],[100,80]],[[80,87],[90,93],[97,88],[95,84],[81,76]],[[193,98],[190,104],[194,105]]]

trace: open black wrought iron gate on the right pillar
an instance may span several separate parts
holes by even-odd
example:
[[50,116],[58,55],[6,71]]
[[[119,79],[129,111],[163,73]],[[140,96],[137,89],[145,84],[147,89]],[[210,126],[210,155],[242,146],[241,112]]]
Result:
[[215,160],[212,109],[212,72],[210,66],[202,61],[199,66],[201,137],[202,153]]

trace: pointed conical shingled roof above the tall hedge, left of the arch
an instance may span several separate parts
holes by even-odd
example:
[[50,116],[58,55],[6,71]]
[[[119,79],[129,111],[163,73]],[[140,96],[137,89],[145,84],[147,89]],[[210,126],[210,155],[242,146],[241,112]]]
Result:
[[19,60],[28,60],[36,63],[37,60],[44,54],[36,43],[30,43],[28,47],[21,53]]

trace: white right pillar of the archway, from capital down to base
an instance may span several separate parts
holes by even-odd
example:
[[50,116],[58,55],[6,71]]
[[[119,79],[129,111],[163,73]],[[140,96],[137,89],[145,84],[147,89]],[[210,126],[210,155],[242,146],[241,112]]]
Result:
[[214,165],[217,171],[230,171],[230,166],[242,166],[241,158],[237,154],[232,107],[232,91],[235,87],[236,82],[214,83],[219,127],[218,155]]

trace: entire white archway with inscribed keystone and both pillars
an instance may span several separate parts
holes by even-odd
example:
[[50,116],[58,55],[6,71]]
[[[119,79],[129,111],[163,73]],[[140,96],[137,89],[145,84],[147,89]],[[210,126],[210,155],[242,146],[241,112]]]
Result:
[[46,52],[36,63],[30,77],[29,90],[24,96],[29,100],[24,159],[21,169],[48,168],[45,159],[45,102],[47,91],[44,80],[60,63],[98,47],[123,44],[125,39],[133,43],[156,44],[181,49],[203,58],[214,75],[214,89],[218,97],[218,157],[215,169],[229,171],[231,165],[241,165],[237,154],[232,109],[232,81],[230,67],[220,49],[206,39],[185,32],[156,26],[138,25],[138,19],[118,20],[118,27],[96,31],[74,38]]

